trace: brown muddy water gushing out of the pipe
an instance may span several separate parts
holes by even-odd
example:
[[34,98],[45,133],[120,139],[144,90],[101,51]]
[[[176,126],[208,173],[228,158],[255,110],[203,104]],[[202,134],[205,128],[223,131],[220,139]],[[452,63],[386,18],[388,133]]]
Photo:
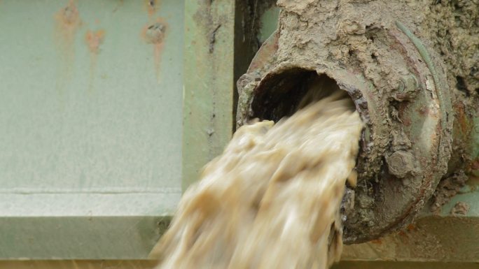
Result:
[[[310,96],[311,97],[311,96]],[[158,268],[328,268],[361,119],[342,93],[237,130],[179,203]]]

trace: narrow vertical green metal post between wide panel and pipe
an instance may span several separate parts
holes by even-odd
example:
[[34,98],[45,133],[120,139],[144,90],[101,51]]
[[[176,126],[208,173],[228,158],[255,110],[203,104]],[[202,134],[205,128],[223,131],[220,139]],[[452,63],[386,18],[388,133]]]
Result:
[[183,189],[223,151],[233,129],[235,1],[187,1]]

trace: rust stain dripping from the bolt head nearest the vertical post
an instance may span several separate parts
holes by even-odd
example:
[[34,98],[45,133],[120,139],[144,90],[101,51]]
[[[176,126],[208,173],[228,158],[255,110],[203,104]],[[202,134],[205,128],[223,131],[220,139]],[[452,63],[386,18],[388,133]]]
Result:
[[160,80],[161,54],[165,46],[164,41],[167,35],[167,29],[168,24],[162,18],[157,18],[155,22],[148,23],[141,29],[142,38],[153,47],[153,64],[158,82]]

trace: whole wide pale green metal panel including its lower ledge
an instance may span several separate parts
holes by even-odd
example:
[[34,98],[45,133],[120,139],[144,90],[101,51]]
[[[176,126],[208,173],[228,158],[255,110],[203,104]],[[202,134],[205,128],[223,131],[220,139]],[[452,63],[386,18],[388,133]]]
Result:
[[0,1],[0,259],[146,258],[181,196],[183,10]]

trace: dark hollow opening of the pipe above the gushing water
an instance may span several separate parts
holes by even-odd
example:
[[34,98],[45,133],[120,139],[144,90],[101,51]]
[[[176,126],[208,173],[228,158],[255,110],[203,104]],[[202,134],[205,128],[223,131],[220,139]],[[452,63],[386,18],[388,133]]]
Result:
[[[254,90],[251,110],[254,117],[277,122],[334,92],[343,91],[328,75],[305,68],[289,68],[267,75]],[[345,92],[345,95],[347,92]],[[351,110],[354,101],[349,99]]]

